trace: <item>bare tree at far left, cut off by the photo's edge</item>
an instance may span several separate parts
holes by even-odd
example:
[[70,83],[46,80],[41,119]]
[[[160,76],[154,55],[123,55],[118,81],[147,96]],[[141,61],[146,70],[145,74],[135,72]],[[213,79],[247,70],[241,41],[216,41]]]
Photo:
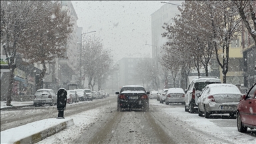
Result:
[[45,7],[42,1],[1,1],[1,45],[9,65],[9,88],[7,106],[11,105],[11,91],[16,68],[15,57],[23,45],[27,29],[41,19]]

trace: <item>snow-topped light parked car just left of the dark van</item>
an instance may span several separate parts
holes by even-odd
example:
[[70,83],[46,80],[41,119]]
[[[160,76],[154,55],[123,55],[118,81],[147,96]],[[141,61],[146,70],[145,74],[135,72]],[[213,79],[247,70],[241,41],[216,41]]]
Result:
[[165,104],[181,103],[185,104],[185,92],[181,88],[170,88],[165,94]]

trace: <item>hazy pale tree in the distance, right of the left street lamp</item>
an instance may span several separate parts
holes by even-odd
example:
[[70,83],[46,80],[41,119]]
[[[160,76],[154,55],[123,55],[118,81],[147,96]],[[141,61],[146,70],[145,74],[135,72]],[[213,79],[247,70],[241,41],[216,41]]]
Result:
[[88,87],[93,91],[97,83],[101,89],[113,63],[110,51],[103,49],[99,37],[93,35],[83,41],[82,57],[83,75],[88,78]]

